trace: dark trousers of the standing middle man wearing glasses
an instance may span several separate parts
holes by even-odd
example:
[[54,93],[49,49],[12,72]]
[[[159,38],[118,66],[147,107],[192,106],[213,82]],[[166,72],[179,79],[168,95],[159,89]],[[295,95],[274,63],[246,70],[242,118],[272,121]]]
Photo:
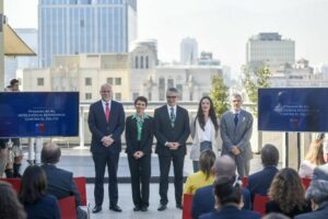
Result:
[[172,152],[169,155],[159,154],[160,160],[160,196],[161,204],[166,205],[167,189],[168,189],[168,173],[171,168],[171,161],[174,168],[174,188],[175,188],[175,201],[177,205],[181,205],[183,189],[184,189],[184,162],[185,154],[178,154]]

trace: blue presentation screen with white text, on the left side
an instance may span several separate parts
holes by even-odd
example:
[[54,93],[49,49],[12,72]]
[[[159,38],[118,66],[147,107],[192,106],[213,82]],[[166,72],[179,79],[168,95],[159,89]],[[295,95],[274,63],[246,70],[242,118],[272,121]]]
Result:
[[79,92],[0,92],[0,138],[79,136]]

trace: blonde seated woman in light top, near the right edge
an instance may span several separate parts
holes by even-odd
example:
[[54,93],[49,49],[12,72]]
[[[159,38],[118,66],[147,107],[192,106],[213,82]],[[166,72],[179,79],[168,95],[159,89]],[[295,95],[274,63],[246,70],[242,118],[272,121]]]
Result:
[[312,178],[314,169],[323,164],[325,164],[323,140],[315,140],[309,145],[305,159],[300,165],[298,174],[301,177]]

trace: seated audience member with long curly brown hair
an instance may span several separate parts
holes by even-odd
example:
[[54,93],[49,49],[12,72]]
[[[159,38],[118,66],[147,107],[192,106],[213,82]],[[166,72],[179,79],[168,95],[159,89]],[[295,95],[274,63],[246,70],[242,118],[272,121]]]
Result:
[[266,205],[266,212],[281,212],[293,218],[296,215],[311,211],[304,198],[301,178],[293,169],[280,170],[269,189],[270,200]]

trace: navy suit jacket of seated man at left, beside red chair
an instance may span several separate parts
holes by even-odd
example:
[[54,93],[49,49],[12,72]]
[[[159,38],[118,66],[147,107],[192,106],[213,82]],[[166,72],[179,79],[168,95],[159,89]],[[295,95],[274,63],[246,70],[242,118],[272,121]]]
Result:
[[42,168],[48,181],[47,194],[56,196],[57,199],[74,195],[77,206],[81,205],[81,197],[73,181],[73,173],[56,168],[52,164],[43,164]]

